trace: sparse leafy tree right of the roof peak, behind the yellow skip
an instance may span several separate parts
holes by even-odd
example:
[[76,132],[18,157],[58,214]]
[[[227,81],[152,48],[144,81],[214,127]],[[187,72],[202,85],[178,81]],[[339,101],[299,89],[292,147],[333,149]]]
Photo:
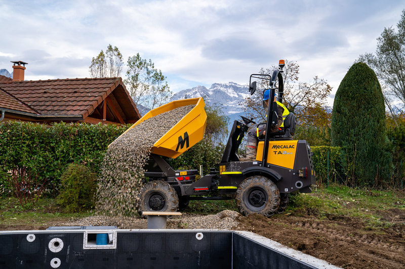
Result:
[[152,60],[136,56],[128,58],[128,71],[125,83],[136,104],[141,104],[147,109],[166,103],[172,95],[166,77],[157,70]]

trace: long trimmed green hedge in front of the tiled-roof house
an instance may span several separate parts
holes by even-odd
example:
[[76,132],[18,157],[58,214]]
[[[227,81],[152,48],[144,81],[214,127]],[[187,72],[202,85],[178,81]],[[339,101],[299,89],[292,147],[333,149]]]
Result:
[[[7,189],[11,171],[25,167],[29,177],[47,181],[57,193],[59,179],[70,163],[98,171],[109,143],[128,126],[25,122],[0,123],[0,186]],[[56,191],[56,192],[55,192]],[[1,192],[1,191],[0,191]]]

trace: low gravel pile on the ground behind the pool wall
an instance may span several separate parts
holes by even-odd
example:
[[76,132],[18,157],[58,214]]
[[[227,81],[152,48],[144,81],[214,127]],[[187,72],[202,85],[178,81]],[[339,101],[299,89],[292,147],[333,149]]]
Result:
[[[241,216],[238,212],[224,210],[215,215],[201,216],[196,214],[183,214],[173,217],[167,222],[167,229],[214,229],[230,230],[238,225],[236,218]],[[125,220],[116,217],[91,216],[67,223],[61,226],[117,226],[120,229],[146,229],[147,220],[140,217]]]

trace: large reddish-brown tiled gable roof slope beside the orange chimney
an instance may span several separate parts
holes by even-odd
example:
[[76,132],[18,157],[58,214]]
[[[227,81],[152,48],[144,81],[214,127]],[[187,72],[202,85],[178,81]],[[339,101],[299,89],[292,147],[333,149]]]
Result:
[[0,80],[0,89],[41,115],[82,115],[83,118],[89,116],[119,85],[121,85],[119,89],[123,91],[121,96],[128,99],[127,108],[132,114],[130,118],[139,119],[139,112],[128,91],[125,90],[121,78],[76,78],[12,83]]

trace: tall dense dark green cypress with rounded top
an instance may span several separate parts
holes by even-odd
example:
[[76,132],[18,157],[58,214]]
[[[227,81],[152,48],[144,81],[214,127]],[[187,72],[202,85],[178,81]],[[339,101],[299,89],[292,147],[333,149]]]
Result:
[[383,98],[376,74],[364,63],[349,69],[336,92],[332,146],[347,152],[348,177],[354,185],[375,184],[387,174]]

